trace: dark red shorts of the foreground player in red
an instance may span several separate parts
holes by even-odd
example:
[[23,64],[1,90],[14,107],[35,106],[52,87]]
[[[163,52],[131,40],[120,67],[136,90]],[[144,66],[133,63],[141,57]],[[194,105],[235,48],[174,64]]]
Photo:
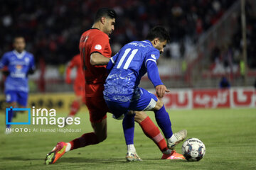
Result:
[[91,123],[100,123],[103,119],[107,118],[107,104],[102,96],[85,97],[85,104],[90,113]]

